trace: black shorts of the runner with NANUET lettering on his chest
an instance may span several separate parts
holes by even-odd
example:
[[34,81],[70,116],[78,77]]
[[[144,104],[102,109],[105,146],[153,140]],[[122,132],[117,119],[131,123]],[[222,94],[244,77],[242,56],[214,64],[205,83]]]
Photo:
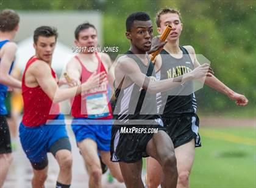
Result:
[[195,139],[195,146],[201,146],[201,139],[198,133],[199,118],[196,114],[186,114],[172,117],[163,117],[163,125],[166,132],[171,137],[174,148],[189,143]]

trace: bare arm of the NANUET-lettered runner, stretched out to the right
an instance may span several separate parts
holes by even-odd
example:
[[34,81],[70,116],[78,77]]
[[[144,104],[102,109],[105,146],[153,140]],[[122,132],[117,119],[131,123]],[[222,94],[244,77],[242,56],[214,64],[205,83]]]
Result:
[[[200,66],[194,48],[192,46],[187,46],[188,52],[193,56],[194,67]],[[207,76],[205,78],[205,84],[213,89],[217,90],[218,92],[223,93],[224,95],[228,96],[230,99],[235,100],[236,104],[239,106],[246,106],[248,103],[248,99],[239,93],[234,92],[232,89],[227,87],[223,82],[221,82],[215,76]]]

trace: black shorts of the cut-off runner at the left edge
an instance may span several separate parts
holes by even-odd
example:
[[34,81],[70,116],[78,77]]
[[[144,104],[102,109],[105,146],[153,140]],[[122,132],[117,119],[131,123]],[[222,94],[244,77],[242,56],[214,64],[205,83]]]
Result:
[[0,154],[12,153],[9,126],[5,115],[0,115]]

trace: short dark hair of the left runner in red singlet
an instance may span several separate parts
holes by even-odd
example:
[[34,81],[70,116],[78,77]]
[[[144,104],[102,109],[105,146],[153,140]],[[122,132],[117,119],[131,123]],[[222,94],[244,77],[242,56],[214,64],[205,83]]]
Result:
[[37,43],[39,36],[55,36],[55,39],[58,37],[57,29],[54,27],[49,27],[49,26],[41,26],[35,29],[34,32],[34,42]]

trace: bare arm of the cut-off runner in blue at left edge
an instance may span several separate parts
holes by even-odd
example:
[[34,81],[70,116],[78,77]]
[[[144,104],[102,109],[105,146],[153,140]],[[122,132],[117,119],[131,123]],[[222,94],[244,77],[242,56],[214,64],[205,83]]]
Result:
[[10,67],[15,59],[16,49],[14,42],[7,42],[1,49],[0,82],[6,86],[21,88],[21,81],[9,75]]

